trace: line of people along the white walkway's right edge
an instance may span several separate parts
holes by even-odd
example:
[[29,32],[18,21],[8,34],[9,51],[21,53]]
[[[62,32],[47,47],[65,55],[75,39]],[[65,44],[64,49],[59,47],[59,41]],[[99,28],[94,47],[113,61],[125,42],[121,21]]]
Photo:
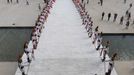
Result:
[[[84,0],[73,0],[80,16],[82,19],[82,25],[85,26],[85,29],[88,33],[89,38],[92,39],[92,43],[96,45],[96,50],[100,52],[100,56],[102,57],[101,60],[102,62],[107,62],[108,61],[108,69],[105,72],[105,75],[111,75],[111,71],[114,67],[114,60],[117,57],[117,53],[113,54],[113,56],[110,58],[110,60],[106,60],[106,55],[108,55],[108,50],[110,46],[110,42],[107,41],[105,46],[102,46],[102,32],[99,33],[99,26],[97,26],[95,29],[93,29],[93,21],[92,17],[88,14],[88,12],[85,9],[85,4],[82,4]],[[103,0],[100,0],[103,1]],[[89,2],[87,0],[87,2]],[[103,14],[104,15],[104,14]],[[111,14],[110,14],[111,15]],[[104,17],[104,16],[103,16]],[[102,17],[102,19],[103,19]],[[115,15],[116,20],[117,14]],[[109,20],[110,18],[108,18]],[[96,74],[97,75],[97,74]]]

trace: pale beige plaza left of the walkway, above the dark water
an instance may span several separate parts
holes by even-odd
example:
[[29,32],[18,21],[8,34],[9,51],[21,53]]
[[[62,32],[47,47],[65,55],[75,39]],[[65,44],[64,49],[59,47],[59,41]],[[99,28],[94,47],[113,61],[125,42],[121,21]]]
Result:
[[[38,6],[45,6],[43,0],[12,0],[7,4],[7,0],[0,0],[0,27],[33,27],[38,18]],[[29,5],[26,5],[26,1]]]

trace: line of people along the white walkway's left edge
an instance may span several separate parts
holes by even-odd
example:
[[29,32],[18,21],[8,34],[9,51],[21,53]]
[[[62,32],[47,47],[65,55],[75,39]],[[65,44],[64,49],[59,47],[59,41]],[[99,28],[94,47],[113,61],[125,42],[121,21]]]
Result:
[[[26,41],[24,44],[24,53],[26,54],[26,61],[22,58],[22,55],[18,57],[18,67],[22,72],[22,75],[27,75],[25,67],[30,66],[32,60],[35,59],[34,53],[37,49],[37,45],[39,43],[39,38],[42,33],[42,29],[44,28],[44,23],[47,21],[47,17],[50,14],[50,9],[52,8],[53,3],[55,0],[49,0],[45,7],[43,8],[41,14],[38,16],[38,19],[35,23],[35,26],[31,33],[31,40]],[[28,72],[28,71],[27,71]]]

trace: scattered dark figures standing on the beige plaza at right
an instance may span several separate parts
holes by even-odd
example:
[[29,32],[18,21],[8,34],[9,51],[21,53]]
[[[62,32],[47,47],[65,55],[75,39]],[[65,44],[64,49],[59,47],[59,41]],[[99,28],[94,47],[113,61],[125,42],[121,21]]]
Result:
[[[89,4],[89,0],[85,0],[85,2],[84,2],[84,0],[80,0],[80,1],[83,4],[84,8],[85,8],[86,4]],[[103,2],[104,2],[103,0],[98,0],[98,4],[100,6],[103,6]],[[127,0],[124,0],[123,3],[126,4]],[[132,14],[131,14],[132,6],[133,6],[133,3],[130,3],[128,6],[128,9],[126,9],[126,13],[122,16],[119,16],[120,14],[116,13],[116,12],[115,13],[102,12],[101,20],[104,20],[104,18],[106,17],[107,21],[112,20],[113,22],[116,22],[117,18],[119,18],[119,24],[124,25],[125,29],[128,29],[130,25],[134,25],[134,19],[132,18]],[[112,19],[112,17],[113,17],[113,19]]]

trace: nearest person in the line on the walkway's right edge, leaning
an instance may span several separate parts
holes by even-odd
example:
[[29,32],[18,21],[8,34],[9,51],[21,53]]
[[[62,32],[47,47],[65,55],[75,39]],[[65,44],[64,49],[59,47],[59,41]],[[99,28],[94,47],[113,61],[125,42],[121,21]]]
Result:
[[111,72],[114,67],[114,60],[116,57],[117,57],[117,53],[114,53],[111,60],[109,60],[108,71],[105,73],[105,75],[111,75]]

